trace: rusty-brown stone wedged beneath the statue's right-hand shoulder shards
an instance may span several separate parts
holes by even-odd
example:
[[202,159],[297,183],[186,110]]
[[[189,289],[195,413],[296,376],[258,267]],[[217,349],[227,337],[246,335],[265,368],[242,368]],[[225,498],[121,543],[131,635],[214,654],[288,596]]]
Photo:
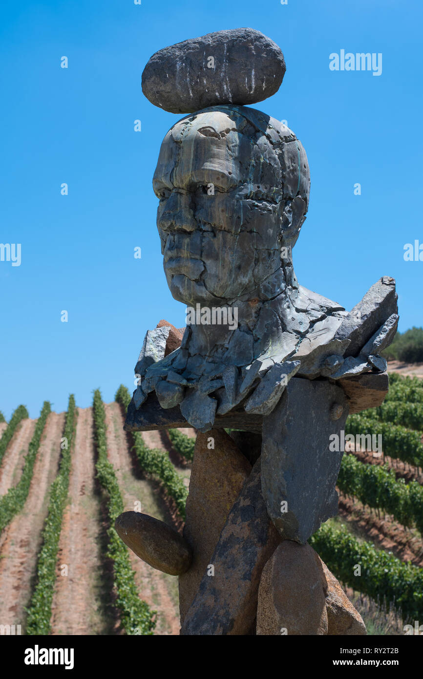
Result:
[[388,373],[364,373],[337,381],[348,397],[349,412],[359,413],[382,405],[388,393]]

